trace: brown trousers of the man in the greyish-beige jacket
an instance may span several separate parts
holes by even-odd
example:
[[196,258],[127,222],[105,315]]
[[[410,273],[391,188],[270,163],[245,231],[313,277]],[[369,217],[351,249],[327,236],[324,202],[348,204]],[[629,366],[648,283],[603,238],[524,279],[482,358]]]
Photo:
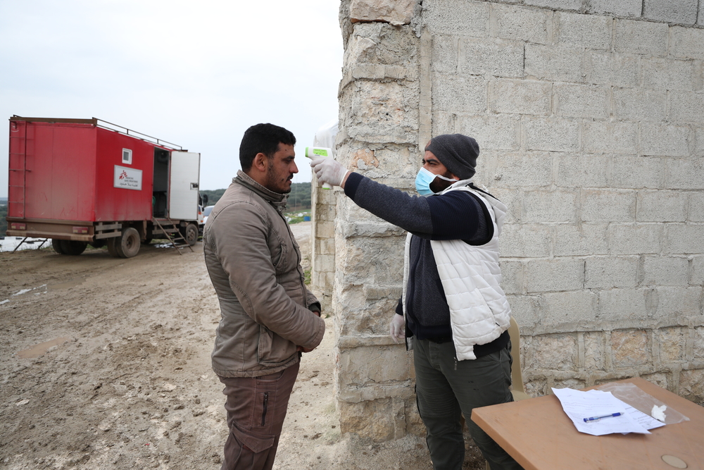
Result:
[[299,366],[268,376],[220,377],[230,428],[220,470],[271,470]]

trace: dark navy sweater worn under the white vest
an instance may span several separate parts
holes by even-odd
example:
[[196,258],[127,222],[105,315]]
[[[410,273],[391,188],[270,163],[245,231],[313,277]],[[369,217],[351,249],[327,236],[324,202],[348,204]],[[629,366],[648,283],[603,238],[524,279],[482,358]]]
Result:
[[[481,191],[474,186],[472,189]],[[430,240],[464,240],[470,245],[489,242],[494,236],[494,224],[484,204],[464,191],[410,196],[358,173],[348,176],[345,194],[363,209],[414,235],[408,259],[406,335],[436,342],[451,340],[450,309]],[[403,314],[400,300],[396,313]],[[477,357],[489,354],[507,342],[508,334],[504,334],[494,342],[475,347],[474,352]]]

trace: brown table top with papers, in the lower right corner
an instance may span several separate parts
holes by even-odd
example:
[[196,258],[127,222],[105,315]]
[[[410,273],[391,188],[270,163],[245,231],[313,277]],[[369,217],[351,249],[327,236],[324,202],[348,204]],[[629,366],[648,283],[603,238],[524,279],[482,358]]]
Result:
[[[651,434],[594,436],[574,428],[554,395],[475,408],[472,421],[526,470],[704,470],[704,407],[642,378],[622,382],[634,383],[690,421],[655,428]],[[663,455],[687,466],[667,464]]]

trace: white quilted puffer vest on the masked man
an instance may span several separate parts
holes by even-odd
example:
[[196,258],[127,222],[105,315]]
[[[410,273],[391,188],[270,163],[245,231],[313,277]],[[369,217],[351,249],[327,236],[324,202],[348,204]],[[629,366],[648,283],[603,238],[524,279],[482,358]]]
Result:
[[[462,240],[431,240],[440,280],[450,307],[452,339],[457,360],[477,359],[474,345],[496,340],[508,330],[511,307],[501,289],[501,268],[498,265],[498,236],[507,208],[495,197],[467,187],[462,180],[448,191],[466,191],[479,197],[494,222],[494,236],[485,245],[467,245]],[[406,237],[406,257],[403,266],[403,312],[406,314],[406,288],[410,257],[410,238]],[[409,338],[412,339],[412,338]],[[413,349],[413,342],[408,342]]]

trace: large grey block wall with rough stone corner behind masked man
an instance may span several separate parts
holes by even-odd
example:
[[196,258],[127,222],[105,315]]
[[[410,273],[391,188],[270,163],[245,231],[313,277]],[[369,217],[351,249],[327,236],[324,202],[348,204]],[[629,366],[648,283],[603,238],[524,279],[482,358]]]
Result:
[[[482,147],[527,391],[643,376],[704,400],[704,0],[344,0],[340,20],[340,161],[412,190],[431,135]],[[388,334],[404,233],[335,196],[342,431],[422,433]]]

